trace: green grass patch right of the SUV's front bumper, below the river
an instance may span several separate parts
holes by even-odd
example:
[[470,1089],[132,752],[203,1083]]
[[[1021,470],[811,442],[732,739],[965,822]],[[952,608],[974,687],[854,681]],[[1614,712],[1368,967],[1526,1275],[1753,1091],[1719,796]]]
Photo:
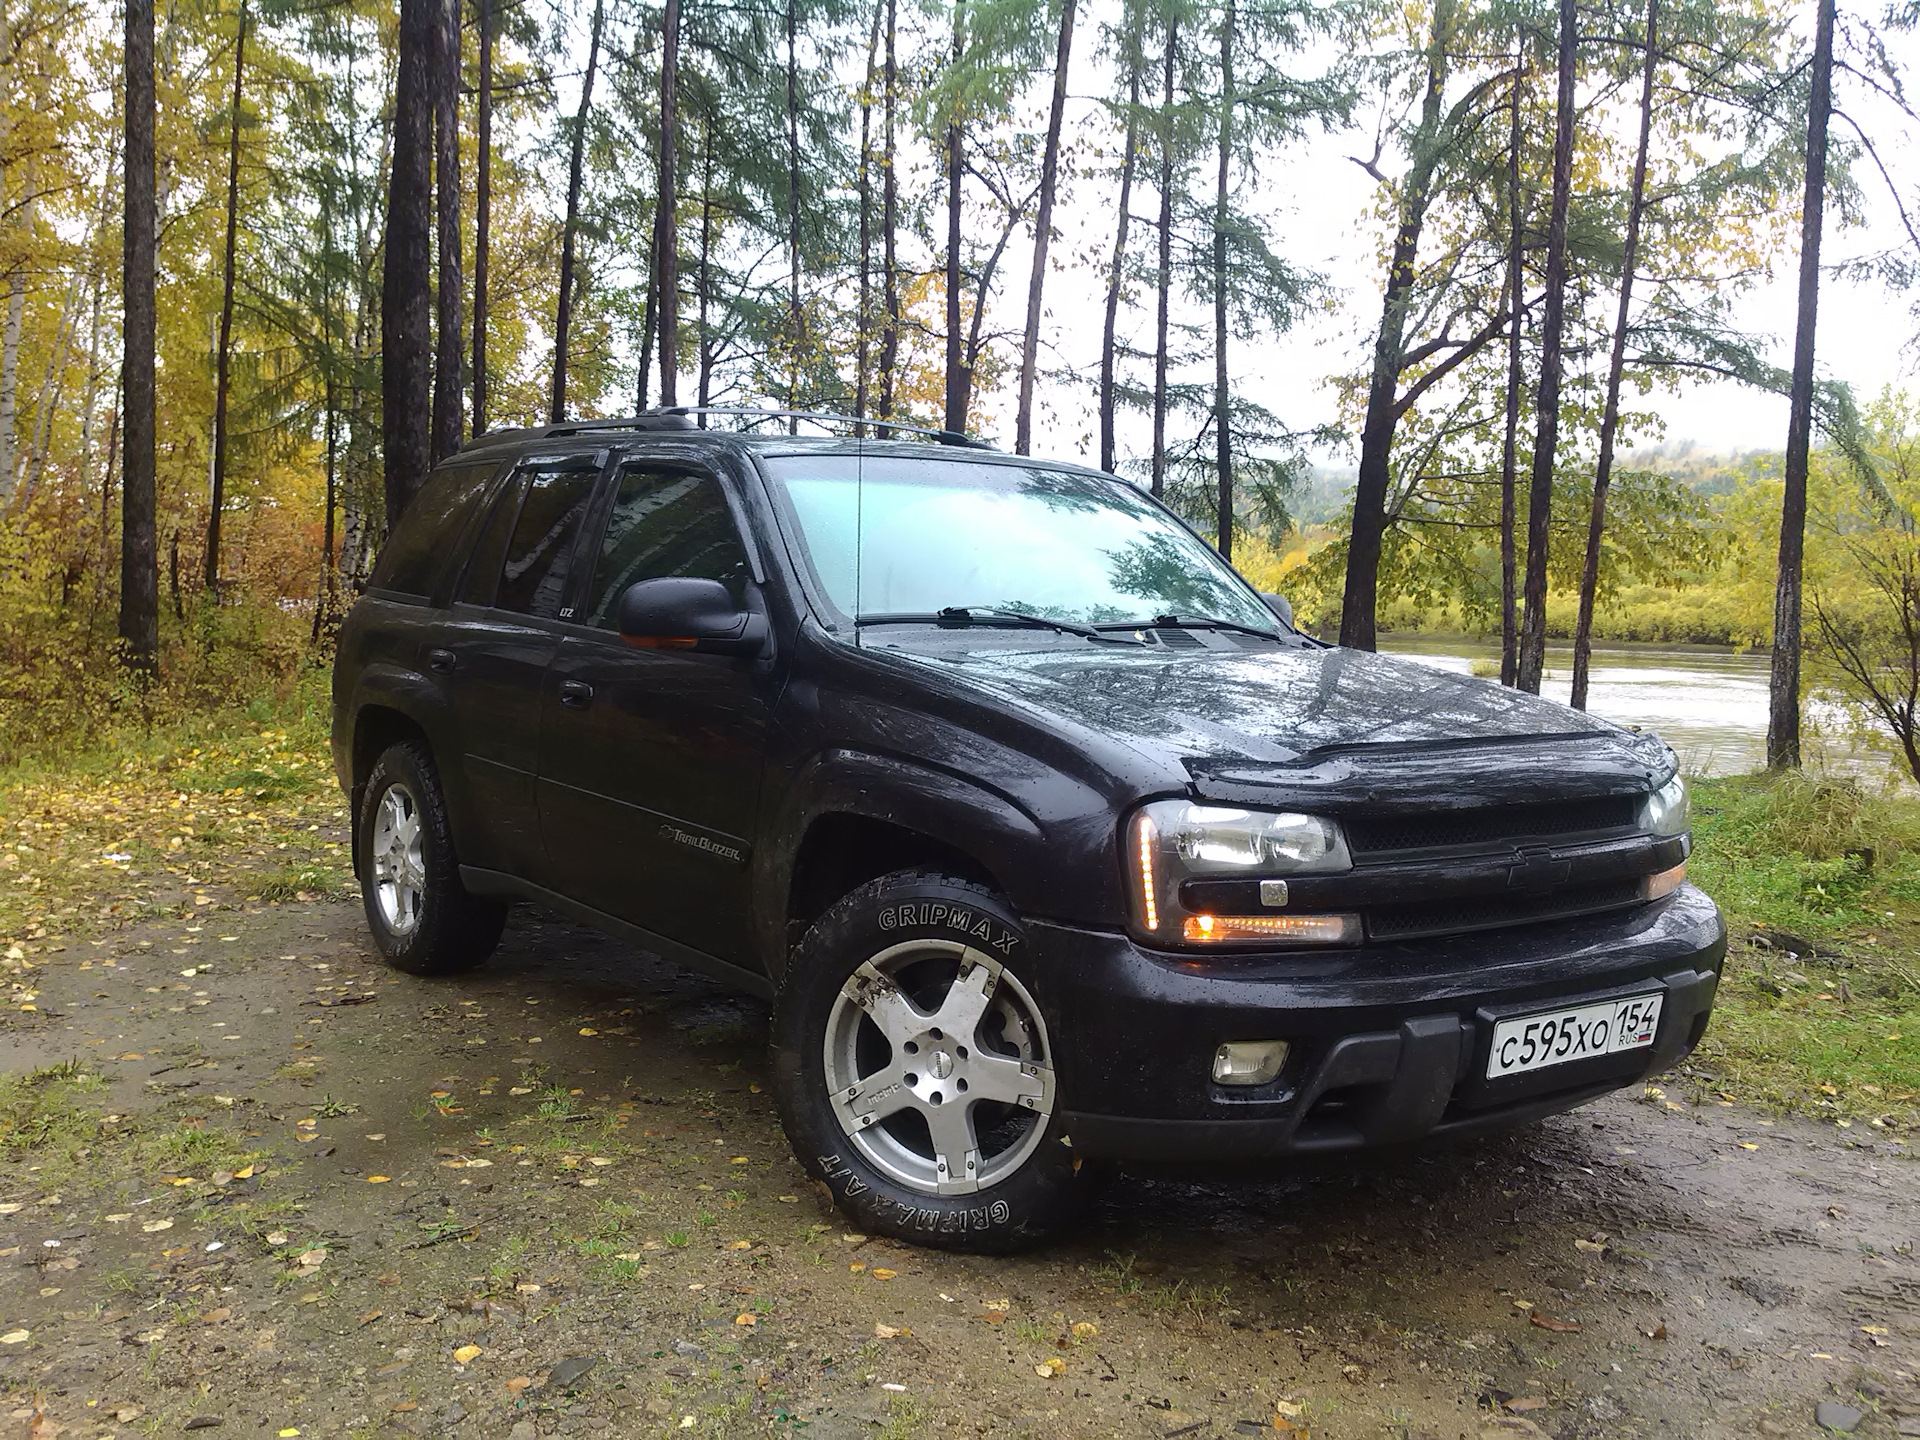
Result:
[[1705,1092],[1920,1125],[1920,799],[1803,774],[1693,783],[1690,877],[1726,912]]

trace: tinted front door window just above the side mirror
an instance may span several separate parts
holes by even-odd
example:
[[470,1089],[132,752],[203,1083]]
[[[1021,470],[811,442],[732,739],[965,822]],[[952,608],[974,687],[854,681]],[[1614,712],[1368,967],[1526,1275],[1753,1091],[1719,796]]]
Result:
[[743,603],[747,551],[710,476],[630,465],[620,472],[582,620],[611,630],[626,588],[660,576],[718,580]]

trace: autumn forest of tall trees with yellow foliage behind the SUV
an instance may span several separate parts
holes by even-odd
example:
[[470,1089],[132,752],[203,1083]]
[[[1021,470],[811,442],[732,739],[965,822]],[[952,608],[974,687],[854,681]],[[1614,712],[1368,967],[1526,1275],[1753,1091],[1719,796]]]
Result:
[[[12,0],[0,760],[324,668],[465,440],[687,405],[1094,463],[1342,643],[1500,636],[1538,689],[1572,637],[1574,705],[1596,636],[1770,649],[1772,764],[1824,687],[1920,774],[1914,407],[1814,348],[1822,276],[1903,324],[1920,273],[1912,21]],[[1371,186],[1361,296],[1288,223],[1329,138]],[[1795,273],[1782,367],[1740,301]],[[1263,372],[1336,303],[1329,422]],[[1647,397],[1726,380],[1786,432],[1668,463]],[[1354,463],[1319,501],[1315,455]]]

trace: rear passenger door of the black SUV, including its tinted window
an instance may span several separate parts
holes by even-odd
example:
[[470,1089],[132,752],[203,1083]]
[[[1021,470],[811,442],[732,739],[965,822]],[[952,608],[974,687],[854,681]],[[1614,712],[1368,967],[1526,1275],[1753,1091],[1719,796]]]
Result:
[[461,735],[461,860],[547,883],[534,774],[540,685],[561,643],[576,551],[605,451],[520,461],[493,497],[424,664]]

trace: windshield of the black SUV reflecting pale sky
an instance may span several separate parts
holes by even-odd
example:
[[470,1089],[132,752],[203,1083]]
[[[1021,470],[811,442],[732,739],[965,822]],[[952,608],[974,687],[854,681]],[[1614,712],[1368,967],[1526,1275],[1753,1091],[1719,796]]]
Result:
[[1081,624],[1277,630],[1210,545],[1117,480],[906,455],[762,461],[843,616],[1002,609]]

